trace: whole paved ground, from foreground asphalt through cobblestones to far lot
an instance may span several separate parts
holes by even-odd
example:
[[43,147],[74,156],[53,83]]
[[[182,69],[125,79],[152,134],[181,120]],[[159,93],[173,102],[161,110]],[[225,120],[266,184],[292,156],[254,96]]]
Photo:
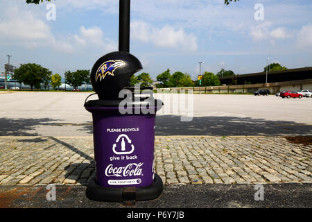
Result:
[[[85,197],[96,173],[87,95],[0,94],[0,207],[121,207]],[[193,119],[181,121],[183,113],[173,111],[185,94],[156,96],[165,105],[155,137],[164,193],[137,207],[311,207],[311,145],[277,135],[311,135],[312,99],[188,95]],[[45,199],[51,183],[55,205]],[[254,201],[259,183],[264,201]]]

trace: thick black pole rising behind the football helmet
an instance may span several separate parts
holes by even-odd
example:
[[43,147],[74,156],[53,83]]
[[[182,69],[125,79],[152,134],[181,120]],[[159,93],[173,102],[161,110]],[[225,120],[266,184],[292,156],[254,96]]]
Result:
[[130,0],[119,0],[119,51],[130,49]]

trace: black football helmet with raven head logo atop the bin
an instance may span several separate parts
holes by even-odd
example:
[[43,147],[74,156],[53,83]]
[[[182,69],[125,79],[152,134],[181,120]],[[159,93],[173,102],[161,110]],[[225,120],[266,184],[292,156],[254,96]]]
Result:
[[131,76],[141,69],[141,62],[130,53],[115,51],[99,58],[90,76],[98,99],[118,99],[121,89],[130,87]]

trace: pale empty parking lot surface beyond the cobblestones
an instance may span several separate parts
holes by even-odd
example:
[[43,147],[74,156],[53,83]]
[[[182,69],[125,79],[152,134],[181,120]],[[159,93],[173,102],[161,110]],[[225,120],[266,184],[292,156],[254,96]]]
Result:
[[[92,115],[83,107],[85,92],[0,94],[0,135],[92,135]],[[155,94],[164,101],[156,135],[312,135],[312,99],[277,96],[189,94],[191,121],[173,112],[185,94]],[[90,99],[97,99],[92,96]]]

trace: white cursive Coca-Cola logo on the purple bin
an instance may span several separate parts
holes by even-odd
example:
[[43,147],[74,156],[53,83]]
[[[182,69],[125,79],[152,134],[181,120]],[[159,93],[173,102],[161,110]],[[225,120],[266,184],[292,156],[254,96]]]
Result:
[[106,176],[116,176],[116,177],[141,176],[141,174],[142,174],[141,166],[142,165],[143,165],[143,162],[140,162],[139,164],[136,164],[136,163],[128,164],[125,167],[114,167],[113,164],[109,164],[105,169],[105,175]]

